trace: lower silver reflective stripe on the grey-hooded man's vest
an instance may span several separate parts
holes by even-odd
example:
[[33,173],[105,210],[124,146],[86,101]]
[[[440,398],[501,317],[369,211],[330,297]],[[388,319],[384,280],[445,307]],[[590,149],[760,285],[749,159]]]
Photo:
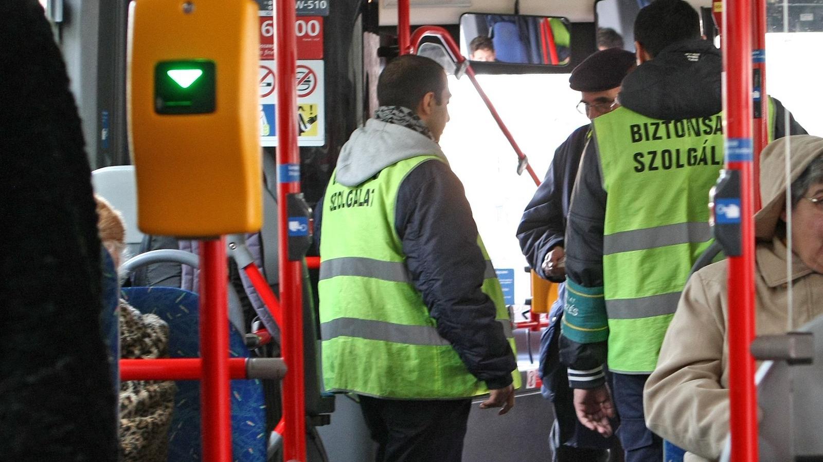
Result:
[[[503,333],[507,339],[512,337],[512,327],[509,320],[498,321],[503,326]],[[355,317],[338,317],[320,325],[320,337],[323,340],[332,340],[335,337],[356,337],[367,340],[384,340],[397,344],[412,345],[450,345],[437,333],[432,326],[409,326],[394,324],[386,321],[372,321]]]

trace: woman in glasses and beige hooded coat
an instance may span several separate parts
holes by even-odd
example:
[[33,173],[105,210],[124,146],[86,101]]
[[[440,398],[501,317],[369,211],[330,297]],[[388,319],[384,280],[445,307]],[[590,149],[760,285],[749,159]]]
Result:
[[[785,210],[787,145],[790,219]],[[787,329],[788,278],[793,284],[794,326],[823,313],[823,138],[800,135],[774,141],[763,150],[760,164],[764,207],[755,215],[756,329],[758,335],[769,335]],[[686,449],[686,462],[718,460],[728,435],[726,267],[720,261],[692,275],[663,340],[658,367],[644,390],[646,423]]]

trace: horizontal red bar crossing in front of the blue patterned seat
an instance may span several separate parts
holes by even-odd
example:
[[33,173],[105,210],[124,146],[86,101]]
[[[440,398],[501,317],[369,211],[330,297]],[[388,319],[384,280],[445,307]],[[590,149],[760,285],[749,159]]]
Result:
[[[246,377],[246,359],[229,358],[233,379]],[[120,380],[200,380],[201,358],[121,359]]]

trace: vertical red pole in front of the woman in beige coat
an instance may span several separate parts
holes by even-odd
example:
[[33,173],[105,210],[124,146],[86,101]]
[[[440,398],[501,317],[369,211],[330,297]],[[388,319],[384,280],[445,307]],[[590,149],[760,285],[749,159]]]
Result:
[[[730,27],[733,25],[733,27]],[[727,99],[726,167],[741,185],[742,255],[728,257],[728,363],[732,462],[756,462],[755,237],[752,218],[751,0],[727,0],[723,8],[723,73]]]

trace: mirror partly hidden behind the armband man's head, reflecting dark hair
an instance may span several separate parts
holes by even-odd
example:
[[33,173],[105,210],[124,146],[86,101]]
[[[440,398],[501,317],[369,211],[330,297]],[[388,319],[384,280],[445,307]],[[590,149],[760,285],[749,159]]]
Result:
[[650,0],[598,0],[597,49],[621,48],[635,53],[635,17]]

